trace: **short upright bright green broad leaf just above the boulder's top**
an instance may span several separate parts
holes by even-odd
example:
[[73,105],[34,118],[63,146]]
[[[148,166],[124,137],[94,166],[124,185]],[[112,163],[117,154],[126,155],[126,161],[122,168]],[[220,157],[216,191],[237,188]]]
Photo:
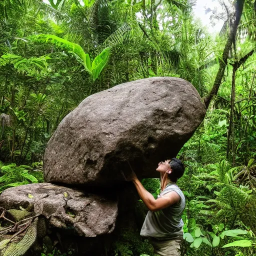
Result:
[[110,47],[106,47],[100,52],[99,55],[97,55],[93,59],[91,63],[93,81],[95,81],[98,78],[100,72],[102,71],[102,69],[107,63],[109,56],[110,56]]

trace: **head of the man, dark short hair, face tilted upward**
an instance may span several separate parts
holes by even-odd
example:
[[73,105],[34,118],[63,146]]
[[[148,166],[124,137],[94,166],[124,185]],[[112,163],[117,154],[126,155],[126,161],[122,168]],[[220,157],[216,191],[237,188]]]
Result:
[[159,162],[156,170],[162,173],[167,172],[168,178],[171,181],[176,182],[184,173],[184,165],[179,159],[172,158],[171,160]]

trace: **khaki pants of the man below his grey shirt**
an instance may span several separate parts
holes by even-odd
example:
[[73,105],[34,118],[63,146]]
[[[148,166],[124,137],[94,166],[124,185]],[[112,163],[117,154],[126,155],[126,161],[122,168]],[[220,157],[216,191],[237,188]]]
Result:
[[182,238],[161,241],[149,237],[149,242],[153,245],[154,253],[160,256],[180,256],[180,245]]

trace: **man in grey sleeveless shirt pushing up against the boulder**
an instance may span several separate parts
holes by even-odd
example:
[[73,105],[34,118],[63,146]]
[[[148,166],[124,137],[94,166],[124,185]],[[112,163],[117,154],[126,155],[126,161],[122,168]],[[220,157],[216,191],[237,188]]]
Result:
[[159,162],[157,171],[160,172],[161,192],[154,199],[138,180],[132,171],[128,178],[137,189],[141,200],[149,211],[142,225],[140,235],[148,236],[154,247],[154,253],[160,256],[179,256],[179,243],[183,236],[182,212],[185,207],[185,197],[175,184],[184,173],[183,163],[172,158]]

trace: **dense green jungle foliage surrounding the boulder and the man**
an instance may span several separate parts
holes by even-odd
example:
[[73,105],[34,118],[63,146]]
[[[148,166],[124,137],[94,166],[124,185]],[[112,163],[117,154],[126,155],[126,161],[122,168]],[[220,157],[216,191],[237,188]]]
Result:
[[[86,96],[181,77],[208,107],[179,152],[182,253],[255,255],[255,2],[218,1],[222,12],[207,9],[224,20],[215,37],[194,19],[191,0],[0,1],[0,192],[43,181],[49,137]],[[157,195],[157,180],[143,183]],[[111,255],[152,255],[137,234],[124,230]]]

